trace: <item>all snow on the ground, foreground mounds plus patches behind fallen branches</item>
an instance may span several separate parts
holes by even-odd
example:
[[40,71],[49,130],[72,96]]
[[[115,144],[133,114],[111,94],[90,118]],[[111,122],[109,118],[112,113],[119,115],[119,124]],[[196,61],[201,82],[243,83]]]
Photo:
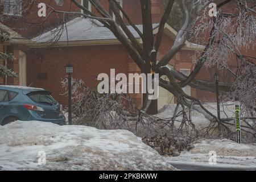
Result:
[[[205,107],[216,112],[215,104]],[[172,117],[175,105],[167,106],[158,117]],[[233,117],[233,105],[226,104],[222,117]],[[209,125],[200,113],[192,112],[197,129]],[[235,126],[230,126],[234,129]],[[172,170],[171,164],[256,170],[256,144],[238,144],[227,139],[200,140],[191,151],[179,156],[160,156],[125,130],[97,130],[86,126],[59,126],[39,121],[18,121],[0,126],[0,170]],[[38,152],[46,152],[46,165]],[[216,152],[214,156],[209,152]]]

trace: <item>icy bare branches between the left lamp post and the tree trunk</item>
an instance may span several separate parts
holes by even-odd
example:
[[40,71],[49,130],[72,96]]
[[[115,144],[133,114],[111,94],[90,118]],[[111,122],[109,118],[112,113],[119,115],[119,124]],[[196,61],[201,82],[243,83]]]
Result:
[[[61,81],[68,94],[68,80]],[[126,129],[134,131],[137,120],[135,105],[127,94],[99,94],[84,81],[72,78],[72,122],[98,129]]]

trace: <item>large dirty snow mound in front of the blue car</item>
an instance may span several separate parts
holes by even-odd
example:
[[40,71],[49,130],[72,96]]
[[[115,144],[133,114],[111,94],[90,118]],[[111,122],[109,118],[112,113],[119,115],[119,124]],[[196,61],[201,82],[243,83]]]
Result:
[[[173,170],[170,162],[125,130],[18,121],[0,127],[2,170]],[[40,151],[46,152],[46,164]]]

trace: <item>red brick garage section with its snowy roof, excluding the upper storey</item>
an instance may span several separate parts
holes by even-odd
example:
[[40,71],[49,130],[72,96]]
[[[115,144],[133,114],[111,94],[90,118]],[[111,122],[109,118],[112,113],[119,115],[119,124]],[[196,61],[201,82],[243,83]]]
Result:
[[[128,26],[133,32],[138,42],[142,42],[137,32]],[[137,26],[142,30],[142,26]],[[153,24],[154,32],[158,32],[158,24]],[[92,20],[84,18],[76,18],[67,23],[68,30],[68,47],[67,36],[61,35],[58,42],[46,49],[50,44],[52,38],[55,36],[51,31],[32,39],[35,44],[30,46],[30,61],[28,63],[28,82],[33,86],[41,86],[49,90],[55,90],[56,93],[61,93],[60,78],[65,76],[65,65],[71,61],[75,72],[73,77],[81,78],[85,84],[90,88],[96,88],[98,81],[96,80],[98,74],[107,73],[110,75],[110,69],[115,68],[116,73],[139,73],[139,68],[131,60],[128,53],[121,46],[118,40],[114,37],[112,32],[107,28],[95,23]],[[84,31],[87,30],[87,31]],[[165,28],[165,35],[163,44],[160,47],[158,59],[160,59],[171,46],[173,37],[176,32],[168,25]],[[191,70],[191,57],[195,49],[199,47],[187,43],[183,50],[178,53],[170,65],[189,74]],[[43,52],[40,50],[45,49]],[[181,59],[183,59],[181,61]],[[40,68],[40,69],[37,69]],[[40,75],[47,77],[39,78]],[[49,79],[51,81],[49,81]],[[55,84],[52,85],[52,81]],[[189,94],[193,96],[196,94],[195,90],[187,89]],[[61,100],[63,96],[55,96]],[[137,101],[137,105],[142,104],[142,94],[131,94],[131,97]],[[168,99],[167,99],[168,98]],[[171,94],[166,90],[160,88],[159,108],[170,102],[174,102]]]

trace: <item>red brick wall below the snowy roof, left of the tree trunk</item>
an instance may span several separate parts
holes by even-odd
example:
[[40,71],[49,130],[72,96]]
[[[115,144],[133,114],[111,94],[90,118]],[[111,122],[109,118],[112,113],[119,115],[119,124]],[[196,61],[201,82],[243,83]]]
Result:
[[[60,96],[64,93],[60,80],[66,76],[68,60],[74,67],[73,77],[81,78],[90,88],[96,88],[100,73],[110,75],[110,69],[115,68],[115,74],[127,74],[129,69],[129,57],[119,45],[50,48],[43,52],[33,49],[28,57],[28,85],[51,90],[62,104],[67,104],[67,98]],[[38,73],[47,73],[47,79],[39,79]]]

